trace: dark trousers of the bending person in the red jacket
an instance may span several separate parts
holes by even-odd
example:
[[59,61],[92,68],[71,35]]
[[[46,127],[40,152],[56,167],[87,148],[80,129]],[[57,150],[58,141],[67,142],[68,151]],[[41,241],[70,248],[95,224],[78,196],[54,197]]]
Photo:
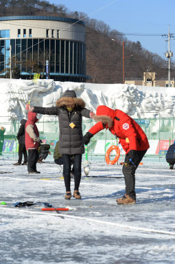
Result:
[[[135,194],[135,171],[137,170],[137,167],[139,166],[139,163],[141,162],[141,159],[143,159],[143,156],[145,155],[146,151],[136,151],[135,156],[132,157],[133,162],[135,162],[135,165],[129,164],[129,166],[126,166],[124,164],[123,166],[123,173],[124,173],[124,179],[125,179],[125,185],[126,185],[126,195],[129,195],[133,199],[136,199]],[[125,162],[128,160],[128,154],[126,154]]]

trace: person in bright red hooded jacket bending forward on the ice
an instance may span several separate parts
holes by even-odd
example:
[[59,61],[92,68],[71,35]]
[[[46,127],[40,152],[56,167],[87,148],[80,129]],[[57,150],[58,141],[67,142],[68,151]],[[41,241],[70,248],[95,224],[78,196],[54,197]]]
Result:
[[100,107],[97,107],[94,120],[97,124],[91,127],[84,135],[84,144],[88,144],[91,137],[102,129],[109,129],[115,137],[119,137],[119,143],[126,152],[122,169],[126,184],[126,194],[116,201],[118,204],[135,203],[135,170],[150,147],[148,138],[135,120],[118,109],[113,110],[100,105]]

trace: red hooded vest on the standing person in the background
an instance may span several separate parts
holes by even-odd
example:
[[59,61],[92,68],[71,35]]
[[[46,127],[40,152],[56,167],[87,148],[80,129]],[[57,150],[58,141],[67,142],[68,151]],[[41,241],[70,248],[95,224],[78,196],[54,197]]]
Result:
[[[37,141],[39,140],[39,132],[38,128],[36,126],[36,122],[38,122],[38,119],[36,118],[36,113],[29,112],[28,113],[28,120],[25,124],[25,148],[28,150],[29,148],[38,149],[39,142],[36,142],[34,139],[36,138]],[[27,126],[31,126],[30,130],[32,131],[31,135],[29,135],[26,131]]]

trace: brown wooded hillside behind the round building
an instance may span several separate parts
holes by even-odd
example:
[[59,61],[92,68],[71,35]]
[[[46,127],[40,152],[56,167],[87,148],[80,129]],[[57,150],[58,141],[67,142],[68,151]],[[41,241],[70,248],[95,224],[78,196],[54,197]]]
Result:
[[[83,19],[87,14],[69,12],[65,5],[54,5],[39,0],[0,0],[0,17],[10,15],[45,15]],[[111,30],[103,21],[86,22],[86,74],[90,83],[122,83],[124,41],[125,77],[143,78],[143,72],[156,72],[156,78],[167,78],[167,60],[132,42],[117,30]],[[113,41],[114,39],[115,41]],[[175,76],[174,69],[172,77]]]

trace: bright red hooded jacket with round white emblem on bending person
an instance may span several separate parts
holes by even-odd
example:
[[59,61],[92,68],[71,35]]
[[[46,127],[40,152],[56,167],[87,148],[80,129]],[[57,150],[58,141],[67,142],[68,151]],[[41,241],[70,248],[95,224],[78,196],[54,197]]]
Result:
[[119,137],[119,143],[124,148],[126,154],[130,150],[145,151],[150,146],[148,138],[141,129],[141,126],[135,122],[129,115],[120,110],[113,110],[104,105],[97,107],[96,115],[107,115],[113,120],[113,126],[108,127],[108,124],[97,122],[89,132],[95,135],[102,129],[109,129],[116,137]]

